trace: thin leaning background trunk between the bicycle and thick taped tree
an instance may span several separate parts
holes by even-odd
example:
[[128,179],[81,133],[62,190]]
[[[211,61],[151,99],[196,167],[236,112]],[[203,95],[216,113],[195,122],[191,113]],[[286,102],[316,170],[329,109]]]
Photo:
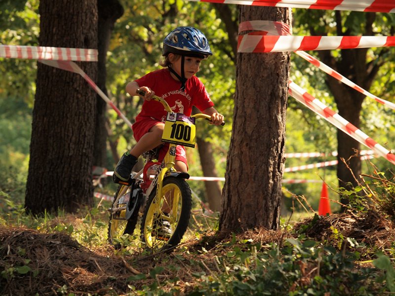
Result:
[[[201,169],[204,177],[218,177],[215,168],[212,145],[201,138],[197,138],[197,150],[199,151]],[[212,211],[221,209],[222,188],[218,181],[204,181],[206,189],[206,201]]]

